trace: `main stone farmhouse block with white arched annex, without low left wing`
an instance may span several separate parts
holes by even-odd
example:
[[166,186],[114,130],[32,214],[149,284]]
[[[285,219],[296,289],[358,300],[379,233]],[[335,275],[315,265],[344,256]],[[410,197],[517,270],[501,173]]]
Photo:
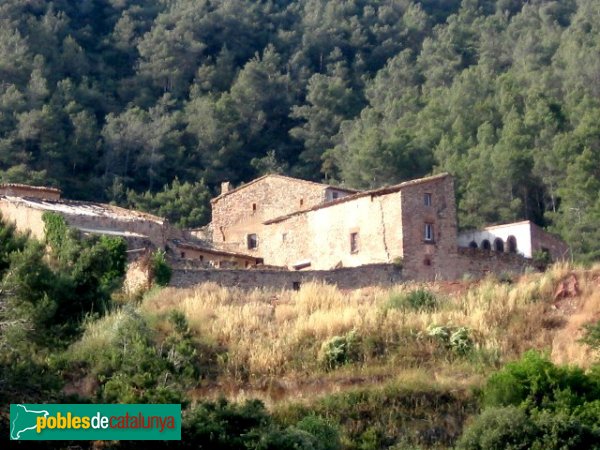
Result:
[[459,235],[446,173],[362,192],[267,175],[233,190],[225,183],[212,213],[215,245],[288,270],[396,263],[412,279],[452,279],[504,271],[535,250],[568,256],[528,221]]

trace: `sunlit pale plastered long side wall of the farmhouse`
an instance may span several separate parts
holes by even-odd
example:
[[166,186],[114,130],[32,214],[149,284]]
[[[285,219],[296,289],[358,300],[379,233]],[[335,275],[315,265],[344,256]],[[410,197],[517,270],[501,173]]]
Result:
[[291,267],[310,262],[310,269],[327,270],[402,257],[401,196],[366,195],[265,225],[259,235],[265,263]]

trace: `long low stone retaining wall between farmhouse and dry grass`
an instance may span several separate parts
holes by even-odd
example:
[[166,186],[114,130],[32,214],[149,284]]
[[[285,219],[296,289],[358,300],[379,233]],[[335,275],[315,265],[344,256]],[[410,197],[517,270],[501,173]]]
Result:
[[242,289],[298,289],[302,283],[321,281],[340,289],[392,286],[403,281],[402,271],[393,264],[372,264],[331,271],[277,270],[173,270],[171,286],[187,288],[213,282]]

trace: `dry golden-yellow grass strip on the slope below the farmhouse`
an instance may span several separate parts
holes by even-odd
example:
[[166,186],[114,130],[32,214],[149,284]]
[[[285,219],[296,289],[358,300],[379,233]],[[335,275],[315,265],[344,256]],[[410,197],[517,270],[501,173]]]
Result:
[[[598,318],[600,294],[595,283],[600,268],[580,275],[578,309],[561,315],[553,310],[552,296],[557,283],[572,270],[569,265],[556,265],[515,284],[489,278],[450,296],[444,294],[443,284],[428,285],[432,291],[441,290],[439,296],[444,299],[434,312],[384,308],[390,295],[415,289],[414,284],[392,290],[341,292],[318,283],[305,284],[298,292],[245,292],[215,284],[165,289],[146,299],[142,309],[158,315],[173,308],[184,312],[193,330],[227,349],[225,373],[238,379],[314,373],[321,343],[350,330],[361,337],[376,336],[384,347],[394,343],[397,349],[402,345],[399,335],[418,336],[431,325],[467,327],[477,348],[494,351],[504,359],[537,348],[550,350],[559,362],[585,364],[589,354],[576,340],[580,327]],[[401,370],[403,357],[419,351],[400,348],[399,356],[384,355],[384,360],[388,358],[383,364]]]

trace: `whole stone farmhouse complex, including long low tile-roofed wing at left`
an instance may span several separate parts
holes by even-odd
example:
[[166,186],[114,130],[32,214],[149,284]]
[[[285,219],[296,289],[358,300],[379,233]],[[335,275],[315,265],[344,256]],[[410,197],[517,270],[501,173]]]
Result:
[[529,221],[459,234],[446,173],[367,191],[265,175],[235,189],[223,183],[211,203],[209,226],[180,230],[151,214],[61,199],[57,189],[0,185],[0,213],[19,230],[43,238],[51,211],[83,233],[124,237],[130,259],[164,249],[176,285],[297,288],[320,279],[359,287],[521,272],[539,251],[569,256]]

